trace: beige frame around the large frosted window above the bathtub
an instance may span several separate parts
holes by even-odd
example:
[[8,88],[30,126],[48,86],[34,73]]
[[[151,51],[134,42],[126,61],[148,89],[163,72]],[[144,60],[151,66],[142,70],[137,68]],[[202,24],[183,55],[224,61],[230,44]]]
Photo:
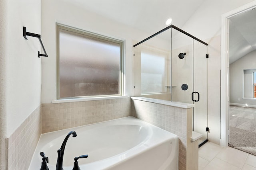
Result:
[[[119,94],[112,94],[112,95],[95,95],[95,96],[76,96],[76,97],[67,97],[67,98],[60,98],[60,29],[64,29],[66,31],[71,31],[74,33],[80,33],[84,34],[90,37],[98,38],[98,39],[103,39],[106,41],[114,42],[114,43],[119,43],[120,44],[120,82],[119,82]],[[124,39],[118,39],[116,37],[110,37],[107,35],[102,35],[99,33],[94,33],[91,31],[85,31],[82,29],[70,27],[67,25],[63,25],[60,23],[56,23],[56,100],[72,100],[72,99],[95,99],[95,98],[112,98],[112,97],[120,97],[120,96],[125,96],[124,92],[124,44],[125,40]]]

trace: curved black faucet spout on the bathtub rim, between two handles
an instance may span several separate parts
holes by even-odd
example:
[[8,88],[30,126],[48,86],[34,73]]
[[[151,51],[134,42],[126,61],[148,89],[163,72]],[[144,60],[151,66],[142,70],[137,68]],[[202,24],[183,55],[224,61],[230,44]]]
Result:
[[73,135],[73,137],[76,137],[76,132],[75,131],[70,131],[68,135],[65,137],[60,149],[58,149],[58,158],[57,158],[57,165],[56,165],[56,170],[63,170],[62,164],[63,164],[63,156],[64,156],[64,150],[66,147],[66,143],[68,141],[68,138],[70,135]]

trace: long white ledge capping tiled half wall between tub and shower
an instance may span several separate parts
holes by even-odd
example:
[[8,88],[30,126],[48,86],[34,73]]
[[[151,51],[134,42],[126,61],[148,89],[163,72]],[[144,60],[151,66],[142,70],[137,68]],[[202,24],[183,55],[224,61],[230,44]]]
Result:
[[131,97],[131,99],[141,100],[141,101],[151,102],[151,103],[157,103],[157,104],[164,104],[164,105],[174,106],[174,107],[181,107],[184,109],[189,109],[189,108],[192,108],[195,106],[194,104],[171,102],[171,101],[167,101],[167,100],[144,98],[144,97]]

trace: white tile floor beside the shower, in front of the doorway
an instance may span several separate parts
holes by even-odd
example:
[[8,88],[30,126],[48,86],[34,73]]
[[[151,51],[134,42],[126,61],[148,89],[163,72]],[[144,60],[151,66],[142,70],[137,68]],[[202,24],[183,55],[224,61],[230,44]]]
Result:
[[256,156],[207,142],[199,148],[199,170],[256,170]]

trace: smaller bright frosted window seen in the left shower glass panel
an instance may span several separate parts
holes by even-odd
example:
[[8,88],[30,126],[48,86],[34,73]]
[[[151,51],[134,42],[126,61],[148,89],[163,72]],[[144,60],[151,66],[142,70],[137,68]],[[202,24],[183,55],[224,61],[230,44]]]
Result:
[[141,94],[165,92],[165,57],[141,53]]

